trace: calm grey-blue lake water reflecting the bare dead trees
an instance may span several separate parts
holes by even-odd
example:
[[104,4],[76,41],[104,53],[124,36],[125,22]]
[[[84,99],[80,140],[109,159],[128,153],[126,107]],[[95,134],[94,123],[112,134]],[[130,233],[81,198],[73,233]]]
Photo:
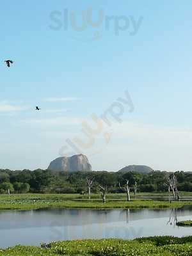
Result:
[[176,218],[192,220],[192,207],[174,210],[40,209],[0,211],[0,248],[71,239],[192,236]]

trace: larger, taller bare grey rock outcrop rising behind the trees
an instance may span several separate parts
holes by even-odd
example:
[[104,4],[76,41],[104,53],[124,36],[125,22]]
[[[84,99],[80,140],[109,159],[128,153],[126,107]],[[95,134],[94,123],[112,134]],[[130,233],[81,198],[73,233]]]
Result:
[[48,170],[64,172],[92,172],[88,158],[82,154],[71,157],[58,157],[49,164]]

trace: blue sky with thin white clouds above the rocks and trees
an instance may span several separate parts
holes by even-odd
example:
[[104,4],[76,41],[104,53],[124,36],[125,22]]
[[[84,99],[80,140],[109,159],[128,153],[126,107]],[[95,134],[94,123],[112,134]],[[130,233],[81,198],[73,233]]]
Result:
[[[102,22],[76,31],[71,13],[80,26],[88,8],[93,22],[102,11]],[[191,10],[189,0],[1,3],[0,168],[46,168],[67,139],[86,141],[83,120],[91,124],[92,113],[102,115],[127,91],[134,111],[124,106],[120,123],[111,116],[112,125],[80,148],[93,170],[192,170]]]

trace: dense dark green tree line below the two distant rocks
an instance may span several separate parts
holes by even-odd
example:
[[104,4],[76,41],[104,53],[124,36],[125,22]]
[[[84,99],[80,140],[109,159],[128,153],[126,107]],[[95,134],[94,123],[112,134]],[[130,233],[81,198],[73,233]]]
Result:
[[[127,193],[168,191],[172,173],[55,172],[51,170],[0,170],[0,193]],[[175,172],[177,189],[192,191],[192,173]]]

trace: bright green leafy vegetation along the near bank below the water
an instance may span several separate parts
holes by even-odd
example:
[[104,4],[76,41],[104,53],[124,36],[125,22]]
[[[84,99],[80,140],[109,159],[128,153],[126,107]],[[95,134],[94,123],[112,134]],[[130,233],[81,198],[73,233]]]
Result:
[[0,250],[0,256],[83,255],[83,256],[190,256],[191,237],[147,237],[133,241],[118,239],[63,241],[41,247],[15,246]]

